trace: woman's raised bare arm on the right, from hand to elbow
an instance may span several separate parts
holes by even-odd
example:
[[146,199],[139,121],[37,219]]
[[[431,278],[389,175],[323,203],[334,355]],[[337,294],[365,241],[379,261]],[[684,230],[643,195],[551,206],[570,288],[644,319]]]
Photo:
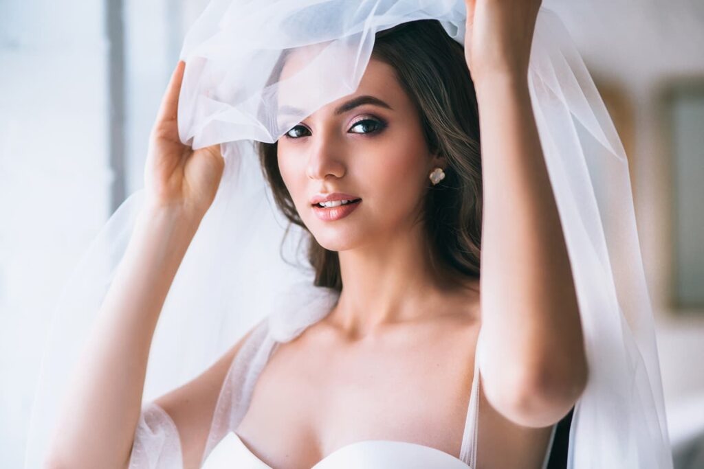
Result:
[[[474,50],[465,53],[474,65],[482,136],[484,392],[515,423],[543,427],[570,411],[588,370],[570,259],[528,91],[532,3],[477,1]],[[489,27],[487,18],[500,26]],[[491,53],[482,57],[480,49]]]

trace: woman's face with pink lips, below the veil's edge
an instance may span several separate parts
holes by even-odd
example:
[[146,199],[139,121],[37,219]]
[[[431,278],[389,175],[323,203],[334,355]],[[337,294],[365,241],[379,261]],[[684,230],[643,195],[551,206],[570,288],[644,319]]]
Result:
[[[434,167],[420,116],[394,68],[372,58],[355,93],[328,103],[278,141],[279,170],[315,239],[342,251],[408,233]],[[315,198],[353,200],[320,207]],[[337,202],[335,204],[339,204]]]

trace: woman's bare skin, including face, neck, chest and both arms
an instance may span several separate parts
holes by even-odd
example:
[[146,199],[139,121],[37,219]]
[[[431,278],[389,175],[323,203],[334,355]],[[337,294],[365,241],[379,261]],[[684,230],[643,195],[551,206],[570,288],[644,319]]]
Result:
[[[549,427],[584,390],[587,366],[572,272],[527,87],[539,1],[467,1],[465,55],[482,131],[481,281],[430,275],[417,223],[427,176],[444,161],[391,68],[371,60],[360,86],[317,110],[301,139],[279,140],[279,169],[318,242],[339,251],[344,289],[319,323],[272,355],[237,429],[272,467],[314,465],[341,446],[391,439],[459,455],[482,328],[477,468],[536,468]],[[177,66],[150,136],[146,206],[118,267],[51,446],[52,468],[127,466],[149,345],[163,300],[224,167],[219,146],[177,136]],[[376,96],[391,110],[337,105]],[[373,115],[388,124],[356,125]],[[299,129],[300,130],[300,129]],[[357,195],[334,222],[317,192]],[[452,281],[451,281],[452,280]],[[244,339],[243,339],[244,340]],[[220,385],[242,341],[157,399],[199,465]],[[89,416],[89,418],[87,418]],[[344,423],[344,425],[341,425]]]

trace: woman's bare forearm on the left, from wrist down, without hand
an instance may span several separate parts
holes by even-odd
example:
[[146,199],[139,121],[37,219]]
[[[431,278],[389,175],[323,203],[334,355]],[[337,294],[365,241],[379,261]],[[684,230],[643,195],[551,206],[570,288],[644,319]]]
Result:
[[199,221],[146,208],[63,403],[50,467],[120,467],[130,455],[158,316]]

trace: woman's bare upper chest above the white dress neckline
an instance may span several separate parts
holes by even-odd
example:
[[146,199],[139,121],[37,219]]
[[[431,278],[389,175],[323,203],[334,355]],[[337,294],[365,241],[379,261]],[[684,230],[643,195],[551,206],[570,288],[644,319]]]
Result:
[[[279,345],[259,376],[238,433],[272,467],[310,468],[367,439],[460,453],[476,331],[340,345]],[[320,339],[320,338],[318,338]]]

